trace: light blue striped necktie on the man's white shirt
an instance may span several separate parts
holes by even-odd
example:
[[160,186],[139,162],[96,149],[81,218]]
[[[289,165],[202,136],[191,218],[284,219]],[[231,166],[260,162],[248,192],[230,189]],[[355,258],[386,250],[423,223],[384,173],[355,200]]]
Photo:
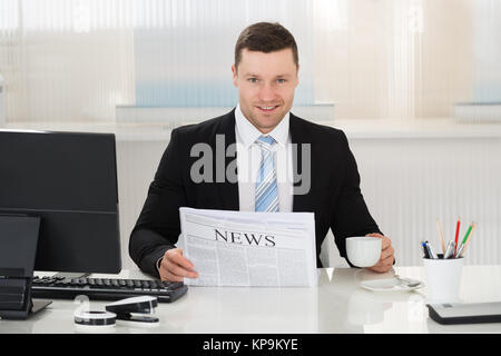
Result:
[[261,166],[257,172],[255,210],[267,212],[278,211],[278,189],[272,151],[273,145],[276,141],[271,136],[261,136],[256,140],[256,144],[261,147]]

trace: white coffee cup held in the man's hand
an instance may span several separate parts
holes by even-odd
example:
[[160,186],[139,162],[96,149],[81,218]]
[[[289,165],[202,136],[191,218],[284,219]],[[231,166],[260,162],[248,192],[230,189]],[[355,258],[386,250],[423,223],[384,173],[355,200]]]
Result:
[[372,267],[381,258],[382,239],[371,236],[346,238],[346,254],[356,267]]

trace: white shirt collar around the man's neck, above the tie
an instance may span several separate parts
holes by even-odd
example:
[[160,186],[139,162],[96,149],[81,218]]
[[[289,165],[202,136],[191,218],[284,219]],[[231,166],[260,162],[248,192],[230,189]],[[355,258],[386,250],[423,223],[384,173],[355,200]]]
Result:
[[[288,139],[288,125],[289,125],[291,112],[284,116],[284,118],[278,122],[278,125],[269,132],[268,136],[272,136],[275,141],[285,147],[287,145]],[[240,109],[240,105],[235,109],[235,121],[237,128],[237,135],[240,142],[245,146],[246,149],[253,145],[259,136],[263,134],[244,116]]]

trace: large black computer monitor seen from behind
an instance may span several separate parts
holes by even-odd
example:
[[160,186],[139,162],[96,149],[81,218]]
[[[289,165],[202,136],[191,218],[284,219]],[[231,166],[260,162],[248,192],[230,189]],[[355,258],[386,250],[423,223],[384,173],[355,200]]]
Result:
[[119,273],[115,135],[0,130],[0,215],[41,218],[36,270]]

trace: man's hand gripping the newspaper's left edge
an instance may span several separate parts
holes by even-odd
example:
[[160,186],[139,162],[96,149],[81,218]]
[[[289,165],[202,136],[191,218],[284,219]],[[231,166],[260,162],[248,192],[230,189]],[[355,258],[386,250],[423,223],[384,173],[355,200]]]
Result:
[[183,281],[184,277],[197,278],[198,273],[194,270],[194,265],[183,256],[183,249],[168,249],[158,269],[161,280]]

